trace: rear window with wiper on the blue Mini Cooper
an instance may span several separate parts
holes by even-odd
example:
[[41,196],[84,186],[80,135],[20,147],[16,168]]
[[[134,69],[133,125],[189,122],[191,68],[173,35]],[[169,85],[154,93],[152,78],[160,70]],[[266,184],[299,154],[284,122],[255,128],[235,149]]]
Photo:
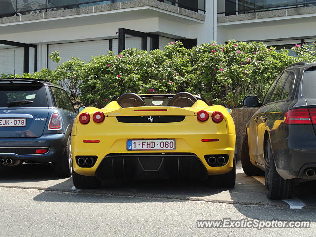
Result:
[[48,107],[43,86],[0,86],[0,107]]

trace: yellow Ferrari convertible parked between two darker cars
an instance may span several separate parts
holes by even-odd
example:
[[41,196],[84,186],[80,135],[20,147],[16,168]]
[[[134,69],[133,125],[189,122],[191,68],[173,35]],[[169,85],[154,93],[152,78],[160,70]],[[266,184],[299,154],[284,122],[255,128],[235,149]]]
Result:
[[233,187],[234,151],[235,126],[223,106],[187,92],[126,93],[77,116],[73,182],[98,188],[109,179],[197,179]]

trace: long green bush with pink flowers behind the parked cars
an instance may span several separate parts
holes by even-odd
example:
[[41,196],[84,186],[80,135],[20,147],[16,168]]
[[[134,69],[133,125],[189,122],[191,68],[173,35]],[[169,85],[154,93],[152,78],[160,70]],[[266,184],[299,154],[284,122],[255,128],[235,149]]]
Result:
[[[42,69],[23,77],[47,79],[62,85],[73,101],[103,107],[113,96],[126,92],[201,94],[211,104],[241,106],[247,95],[263,98],[277,74],[297,61],[316,61],[315,44],[296,45],[297,57],[288,50],[276,52],[263,43],[202,44],[185,49],[172,42],[165,51],[126,49],[119,55],[92,57],[89,62],[72,58],[60,64],[59,52],[50,58],[56,70]],[[0,77],[6,77],[1,75]],[[12,76],[12,75],[11,75]]]

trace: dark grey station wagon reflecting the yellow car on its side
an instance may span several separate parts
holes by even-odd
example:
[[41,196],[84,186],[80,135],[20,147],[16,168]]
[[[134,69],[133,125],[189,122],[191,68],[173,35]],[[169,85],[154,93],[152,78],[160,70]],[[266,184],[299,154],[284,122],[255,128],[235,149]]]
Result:
[[242,167],[247,175],[265,172],[270,199],[292,197],[295,181],[316,179],[316,63],[294,63],[272,83],[247,123]]

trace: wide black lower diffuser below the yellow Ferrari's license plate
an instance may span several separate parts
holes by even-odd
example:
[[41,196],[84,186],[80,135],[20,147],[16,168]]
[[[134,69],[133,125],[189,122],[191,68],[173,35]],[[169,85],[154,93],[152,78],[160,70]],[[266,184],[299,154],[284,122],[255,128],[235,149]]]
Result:
[[96,178],[205,180],[207,170],[193,153],[119,153],[105,156]]

